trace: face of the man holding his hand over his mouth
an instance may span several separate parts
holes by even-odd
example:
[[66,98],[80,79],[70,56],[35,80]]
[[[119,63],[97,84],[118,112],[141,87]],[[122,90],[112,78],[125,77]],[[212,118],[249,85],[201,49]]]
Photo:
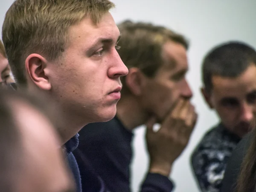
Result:
[[188,70],[186,49],[172,41],[163,46],[164,64],[154,78],[145,77],[140,101],[159,122],[166,118],[179,98],[190,99],[192,91],[186,81]]

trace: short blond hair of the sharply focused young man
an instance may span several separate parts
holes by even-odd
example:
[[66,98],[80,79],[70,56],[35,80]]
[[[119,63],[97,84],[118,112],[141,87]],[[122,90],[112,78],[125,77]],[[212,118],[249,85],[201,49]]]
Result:
[[17,84],[26,85],[24,62],[32,53],[55,61],[68,46],[70,26],[90,17],[99,23],[109,0],[16,0],[3,23],[3,44]]

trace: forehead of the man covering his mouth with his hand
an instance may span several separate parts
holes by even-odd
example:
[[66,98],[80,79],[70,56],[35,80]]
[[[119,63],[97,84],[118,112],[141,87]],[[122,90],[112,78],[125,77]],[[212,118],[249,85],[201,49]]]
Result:
[[168,41],[163,45],[164,68],[172,69],[173,72],[188,69],[186,48],[179,43]]

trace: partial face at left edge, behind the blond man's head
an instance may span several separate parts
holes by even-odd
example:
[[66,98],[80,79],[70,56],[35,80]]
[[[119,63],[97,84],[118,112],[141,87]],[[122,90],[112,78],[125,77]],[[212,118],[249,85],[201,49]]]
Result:
[[7,58],[0,54],[0,82],[12,83],[14,82],[10,76],[10,67]]

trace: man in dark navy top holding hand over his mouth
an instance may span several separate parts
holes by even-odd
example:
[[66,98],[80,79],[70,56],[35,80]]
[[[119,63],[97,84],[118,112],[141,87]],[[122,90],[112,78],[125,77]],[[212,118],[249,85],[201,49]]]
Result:
[[[132,131],[145,124],[150,159],[140,190],[171,192],[172,165],[189,142],[197,119],[185,78],[188,43],[182,35],[150,23],[124,21],[119,30],[118,52],[129,69],[122,78],[122,99],[111,121],[91,123],[79,132],[77,150],[92,162],[108,189],[130,192]],[[157,132],[154,123],[161,125]]]

